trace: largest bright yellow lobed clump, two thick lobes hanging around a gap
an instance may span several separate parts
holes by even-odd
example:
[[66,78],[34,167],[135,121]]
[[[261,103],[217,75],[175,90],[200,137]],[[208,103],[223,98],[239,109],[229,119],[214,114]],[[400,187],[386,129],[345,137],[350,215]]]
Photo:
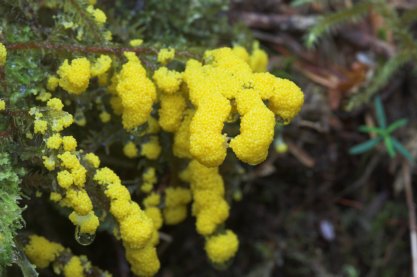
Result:
[[[241,116],[241,134],[231,140],[237,157],[249,164],[266,159],[272,142],[275,115],[289,122],[303,104],[301,90],[291,81],[266,70],[267,55],[257,46],[251,56],[241,47],[207,51],[202,64],[187,62],[184,82],[196,107],[190,124],[190,152],[200,163],[216,167],[228,147],[222,134],[235,100]],[[264,74],[264,75],[262,75]],[[263,100],[268,100],[269,107]]]

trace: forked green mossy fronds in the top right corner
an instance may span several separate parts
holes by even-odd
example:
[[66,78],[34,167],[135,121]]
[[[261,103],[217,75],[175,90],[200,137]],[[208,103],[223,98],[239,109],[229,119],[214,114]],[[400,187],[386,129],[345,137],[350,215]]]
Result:
[[[346,106],[347,110],[354,110],[366,104],[388,82],[392,76],[406,63],[415,64],[417,61],[417,40],[410,31],[411,23],[416,20],[417,7],[400,14],[387,1],[364,0],[356,1],[351,7],[340,9],[319,18],[306,35],[306,45],[309,48],[317,45],[325,35],[337,31],[340,26],[363,20],[370,11],[384,18],[384,29],[392,32],[396,41],[397,51],[392,57],[382,59],[377,66],[375,76],[359,93],[353,95]],[[413,62],[414,61],[414,62]]]

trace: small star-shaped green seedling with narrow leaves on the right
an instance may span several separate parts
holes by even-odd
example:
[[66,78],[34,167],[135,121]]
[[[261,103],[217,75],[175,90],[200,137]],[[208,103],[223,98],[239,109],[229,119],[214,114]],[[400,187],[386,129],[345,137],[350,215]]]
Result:
[[377,146],[380,142],[384,142],[385,148],[391,158],[394,158],[399,152],[404,158],[409,160],[411,163],[414,162],[413,156],[408,152],[408,150],[394,137],[392,137],[392,133],[407,124],[407,119],[402,118],[394,121],[390,125],[387,126],[386,123],[386,116],[384,112],[384,108],[382,106],[381,98],[376,97],[374,101],[375,106],[375,114],[376,119],[378,122],[379,127],[368,127],[368,126],[361,126],[359,127],[360,132],[364,133],[374,133],[377,136],[373,139],[370,139],[366,142],[358,144],[352,147],[349,150],[349,153],[352,155],[362,154],[367,152]]

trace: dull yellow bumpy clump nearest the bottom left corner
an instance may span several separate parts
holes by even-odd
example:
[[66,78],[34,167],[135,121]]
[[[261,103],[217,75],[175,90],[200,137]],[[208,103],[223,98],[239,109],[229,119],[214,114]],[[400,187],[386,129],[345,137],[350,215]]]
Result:
[[29,260],[38,268],[46,268],[64,250],[58,243],[50,242],[44,237],[32,235],[24,251]]

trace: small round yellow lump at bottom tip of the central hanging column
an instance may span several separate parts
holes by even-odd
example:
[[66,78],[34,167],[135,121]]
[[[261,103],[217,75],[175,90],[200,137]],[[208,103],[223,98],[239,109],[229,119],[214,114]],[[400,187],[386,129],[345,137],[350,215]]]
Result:
[[210,261],[215,264],[223,264],[236,254],[238,247],[237,236],[227,230],[224,234],[209,237],[205,249]]

